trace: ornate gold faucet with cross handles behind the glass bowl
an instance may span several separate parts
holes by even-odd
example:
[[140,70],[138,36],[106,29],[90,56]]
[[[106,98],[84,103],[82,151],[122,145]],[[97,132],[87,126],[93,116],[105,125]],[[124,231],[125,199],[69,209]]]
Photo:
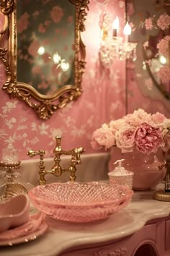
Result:
[[[76,165],[81,164],[81,153],[84,153],[84,148],[73,148],[71,150],[65,151],[62,150],[61,148],[61,136],[56,136],[56,146],[55,149],[53,150],[53,153],[55,155],[54,157],[54,165],[51,168],[51,170],[45,170],[45,163],[44,163],[44,155],[45,151],[44,150],[29,150],[27,155],[30,156],[30,158],[34,157],[35,155],[40,155],[40,164],[39,164],[39,184],[43,185],[46,183],[45,180],[45,175],[46,174],[53,174],[54,176],[61,176],[63,172],[69,171],[70,176],[69,180],[70,181],[75,181],[76,180]],[[63,168],[61,167],[61,155],[71,155],[71,162],[69,168]]]

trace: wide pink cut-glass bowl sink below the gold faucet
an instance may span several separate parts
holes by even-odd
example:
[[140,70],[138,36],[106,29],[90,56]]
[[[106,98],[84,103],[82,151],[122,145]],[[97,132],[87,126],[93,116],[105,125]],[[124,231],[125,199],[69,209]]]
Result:
[[98,182],[52,183],[29,192],[32,204],[42,213],[77,223],[107,218],[128,205],[132,195],[128,187]]

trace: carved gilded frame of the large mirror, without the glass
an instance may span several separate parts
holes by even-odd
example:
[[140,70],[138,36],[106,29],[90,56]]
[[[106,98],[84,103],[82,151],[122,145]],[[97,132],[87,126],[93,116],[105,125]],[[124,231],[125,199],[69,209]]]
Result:
[[[76,100],[82,93],[81,80],[85,70],[86,49],[81,40],[85,30],[86,9],[89,0],[68,0],[75,5],[74,30],[74,85],[64,85],[52,95],[42,95],[24,82],[17,82],[17,0],[1,0],[0,11],[4,14],[4,27],[0,31],[0,59],[4,64],[6,82],[2,89],[9,98],[19,98],[30,106],[40,119],[50,117],[67,103]],[[3,48],[3,38],[8,34],[9,48]]]

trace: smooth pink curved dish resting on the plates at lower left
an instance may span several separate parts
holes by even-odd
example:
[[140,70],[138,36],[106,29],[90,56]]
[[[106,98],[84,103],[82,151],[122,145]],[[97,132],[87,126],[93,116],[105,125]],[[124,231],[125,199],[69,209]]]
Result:
[[18,195],[0,203],[0,233],[21,226],[29,220],[30,199],[27,195]]

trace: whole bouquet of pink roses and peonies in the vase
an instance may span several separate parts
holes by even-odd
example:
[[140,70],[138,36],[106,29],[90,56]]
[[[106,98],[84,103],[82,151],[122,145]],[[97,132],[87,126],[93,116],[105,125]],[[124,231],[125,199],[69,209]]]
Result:
[[167,151],[170,148],[170,119],[159,112],[148,114],[139,108],[122,119],[102,124],[93,132],[91,146],[96,150],[116,146],[122,153],[135,149],[144,154],[156,153],[158,148]]

